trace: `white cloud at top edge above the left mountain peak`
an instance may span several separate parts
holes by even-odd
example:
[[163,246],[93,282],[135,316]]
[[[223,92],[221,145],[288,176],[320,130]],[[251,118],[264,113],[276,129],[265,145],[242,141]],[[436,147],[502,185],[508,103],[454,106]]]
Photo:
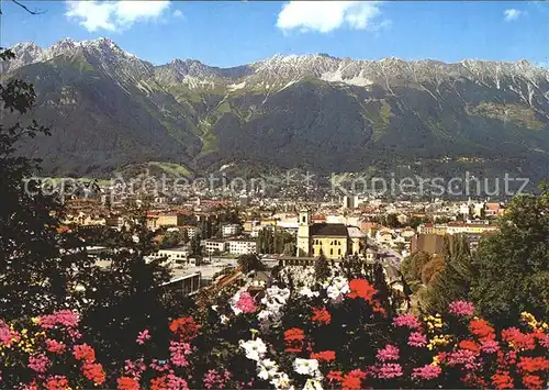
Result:
[[160,18],[170,7],[169,1],[67,1],[65,15],[80,22],[88,31],[125,30],[136,22]]

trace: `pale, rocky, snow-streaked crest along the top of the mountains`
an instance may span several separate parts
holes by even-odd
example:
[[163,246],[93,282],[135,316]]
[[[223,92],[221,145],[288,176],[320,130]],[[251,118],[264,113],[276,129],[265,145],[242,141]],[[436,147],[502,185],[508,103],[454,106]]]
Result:
[[[545,88],[549,83],[548,69],[519,62],[482,62],[464,59],[456,64],[438,60],[403,60],[384,58],[362,60],[335,58],[327,54],[280,55],[238,67],[219,68],[195,59],[175,58],[169,64],[153,66],[135,55],[120,48],[109,38],[75,42],[65,38],[47,48],[33,42],[20,43],[11,47],[15,59],[4,66],[3,71],[12,71],[33,63],[43,63],[59,55],[82,52],[88,59],[110,70],[114,65],[132,69],[139,77],[153,77],[160,82],[183,83],[190,89],[214,89],[223,86],[228,91],[238,89],[281,89],[304,78],[343,83],[357,87],[379,85],[391,90],[394,86],[430,83],[438,88],[442,82],[474,80],[480,85],[515,91],[528,104],[536,92],[549,101]],[[137,76],[134,75],[134,76]]]

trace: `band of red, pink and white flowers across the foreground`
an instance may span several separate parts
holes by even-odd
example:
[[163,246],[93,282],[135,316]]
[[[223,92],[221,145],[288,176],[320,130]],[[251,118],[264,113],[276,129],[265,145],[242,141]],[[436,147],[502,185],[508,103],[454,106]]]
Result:
[[1,387],[540,389],[549,378],[549,326],[531,314],[505,330],[462,301],[447,315],[393,314],[365,277],[302,278],[256,296],[240,288],[166,325],[165,356],[150,356],[155,339],[143,330],[135,359],[105,372],[76,313],[0,322]]

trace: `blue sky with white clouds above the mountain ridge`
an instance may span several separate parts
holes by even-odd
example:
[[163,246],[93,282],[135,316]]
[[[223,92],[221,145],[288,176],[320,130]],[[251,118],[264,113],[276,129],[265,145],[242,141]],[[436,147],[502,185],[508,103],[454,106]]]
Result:
[[112,38],[154,64],[235,66],[273,54],[549,64],[549,1],[2,1],[1,44]]

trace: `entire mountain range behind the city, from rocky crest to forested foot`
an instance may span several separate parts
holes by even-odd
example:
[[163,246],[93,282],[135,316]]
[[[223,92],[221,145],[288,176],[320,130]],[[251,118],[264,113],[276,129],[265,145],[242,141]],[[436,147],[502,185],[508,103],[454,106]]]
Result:
[[[526,60],[312,54],[233,68],[193,59],[154,66],[108,38],[12,51],[16,58],[2,73],[35,83],[38,119],[65,135],[31,147],[38,156],[58,151],[47,166],[56,174],[107,172],[150,159],[194,172],[232,163],[444,171],[440,161],[449,160],[450,170],[508,166],[539,176],[549,164],[549,71]],[[81,153],[85,134],[107,140]],[[93,151],[107,159],[98,161]]]

